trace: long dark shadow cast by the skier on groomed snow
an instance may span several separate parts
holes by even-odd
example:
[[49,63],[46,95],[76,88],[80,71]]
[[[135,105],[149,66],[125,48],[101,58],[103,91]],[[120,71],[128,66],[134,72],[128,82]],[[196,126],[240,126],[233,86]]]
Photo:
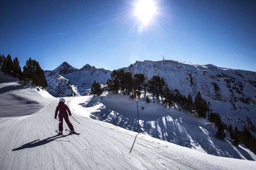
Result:
[[[67,136],[67,135],[66,135]],[[55,139],[59,139],[59,138],[62,138],[64,136],[61,136],[61,135],[54,135],[52,137],[48,137],[44,140],[41,140],[40,139],[37,139],[35,141],[32,141],[30,143],[26,143],[24,145],[22,145],[21,147],[18,147],[18,148],[15,148],[13,149],[12,151],[15,151],[15,150],[22,150],[22,149],[26,149],[26,148],[34,148],[34,147],[38,147],[38,146],[41,146],[41,145],[45,145],[51,141],[54,141]],[[70,141],[66,141],[66,142],[70,142]]]

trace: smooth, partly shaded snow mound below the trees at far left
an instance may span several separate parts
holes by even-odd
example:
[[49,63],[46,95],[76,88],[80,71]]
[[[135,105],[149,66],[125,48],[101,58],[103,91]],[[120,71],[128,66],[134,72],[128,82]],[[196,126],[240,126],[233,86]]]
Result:
[[18,78],[0,72],[0,117],[31,115],[44,107],[45,100],[53,98],[46,90],[36,89],[31,85],[20,85],[18,81]]

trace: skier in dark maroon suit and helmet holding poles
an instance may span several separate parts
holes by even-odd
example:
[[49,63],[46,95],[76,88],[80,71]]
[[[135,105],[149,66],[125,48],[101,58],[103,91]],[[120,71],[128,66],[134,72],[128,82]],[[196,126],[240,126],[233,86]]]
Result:
[[[57,119],[57,115],[58,115],[58,111],[59,111],[59,133],[62,135],[62,131],[63,131],[63,118],[66,121],[68,128],[70,129],[71,133],[76,133],[74,131],[74,127],[72,125],[72,123],[70,123],[69,119],[68,119],[68,114],[71,116],[71,111],[69,109],[69,107],[65,104],[65,99],[64,98],[60,98],[60,102],[58,104],[58,106],[56,107],[55,110],[55,116],[54,119]],[[68,111],[68,112],[67,112]]]

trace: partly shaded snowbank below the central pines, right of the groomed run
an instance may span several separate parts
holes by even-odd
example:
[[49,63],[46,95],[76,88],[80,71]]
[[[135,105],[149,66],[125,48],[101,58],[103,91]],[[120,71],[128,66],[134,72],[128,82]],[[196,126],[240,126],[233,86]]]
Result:
[[[85,107],[92,119],[138,132],[136,100],[129,99],[128,96],[84,96],[72,98],[72,102],[74,101]],[[242,145],[234,147],[228,136],[223,141],[216,138],[217,129],[207,119],[195,117],[184,110],[169,109],[159,103],[147,104],[144,98],[138,99],[138,108],[142,134],[207,154],[256,160],[256,155]]]

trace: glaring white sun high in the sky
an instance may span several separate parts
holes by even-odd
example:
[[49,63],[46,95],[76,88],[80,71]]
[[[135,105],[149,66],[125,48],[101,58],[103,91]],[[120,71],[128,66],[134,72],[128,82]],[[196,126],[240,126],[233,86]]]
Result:
[[137,2],[135,14],[143,25],[148,25],[155,13],[156,7],[153,0],[139,0]]

